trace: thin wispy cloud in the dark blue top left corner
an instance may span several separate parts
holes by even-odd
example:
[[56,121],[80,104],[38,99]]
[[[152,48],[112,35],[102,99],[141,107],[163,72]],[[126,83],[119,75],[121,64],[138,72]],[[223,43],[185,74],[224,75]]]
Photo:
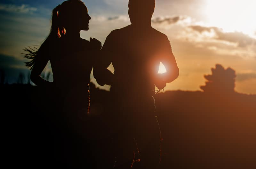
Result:
[[29,5],[22,4],[17,6],[14,4],[0,4],[0,11],[16,12],[16,13],[33,13],[37,11],[37,8],[30,7]]

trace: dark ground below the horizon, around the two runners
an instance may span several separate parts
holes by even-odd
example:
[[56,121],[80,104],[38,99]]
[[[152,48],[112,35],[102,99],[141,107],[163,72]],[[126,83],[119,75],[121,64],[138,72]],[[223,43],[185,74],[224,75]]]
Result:
[[[44,151],[49,139],[40,107],[50,103],[39,96],[51,94],[31,85],[2,85],[0,92],[3,161],[8,168],[44,166],[51,152]],[[105,112],[108,94],[91,87],[94,117]],[[163,137],[161,168],[256,168],[255,95],[167,91],[155,98]]]

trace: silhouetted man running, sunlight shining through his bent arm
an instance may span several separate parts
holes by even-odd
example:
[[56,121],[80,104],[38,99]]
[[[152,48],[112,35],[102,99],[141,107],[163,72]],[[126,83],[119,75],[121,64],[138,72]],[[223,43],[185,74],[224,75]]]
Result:
[[[128,142],[134,140],[139,148],[134,151],[135,160],[140,159],[143,168],[154,168],[160,160],[160,137],[152,96],[155,85],[163,89],[179,76],[179,68],[167,36],[151,27],[155,0],[129,0],[128,7],[131,25],[108,35],[101,49],[101,65],[94,67],[93,74],[98,84],[111,85],[109,112],[114,113],[119,129],[119,151],[127,148],[129,154]],[[114,74],[107,69],[111,62]],[[166,73],[157,74],[160,62]]]

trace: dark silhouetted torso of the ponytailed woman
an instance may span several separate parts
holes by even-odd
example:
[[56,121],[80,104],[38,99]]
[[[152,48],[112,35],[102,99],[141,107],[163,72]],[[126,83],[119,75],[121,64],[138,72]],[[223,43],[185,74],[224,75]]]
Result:
[[[89,108],[89,82],[93,66],[90,42],[59,38],[50,57],[53,89],[59,103],[72,109]],[[56,101],[57,101],[56,100]]]

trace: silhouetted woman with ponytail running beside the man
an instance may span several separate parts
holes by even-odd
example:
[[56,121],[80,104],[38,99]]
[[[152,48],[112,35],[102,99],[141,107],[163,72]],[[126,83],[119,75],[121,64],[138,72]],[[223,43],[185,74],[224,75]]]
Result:
[[[27,67],[31,67],[31,81],[48,90],[52,100],[52,123],[58,127],[54,135],[54,149],[59,164],[85,165],[85,148],[83,121],[81,114],[89,113],[89,82],[94,63],[94,55],[100,51],[101,43],[96,39],[90,41],[80,38],[81,30],[89,29],[87,7],[80,0],[64,1],[52,11],[52,27],[47,39],[38,50],[27,49]],[[50,61],[53,82],[44,80],[40,75]],[[57,113],[58,112],[58,113]],[[59,121],[59,122],[57,122]],[[61,134],[60,134],[61,133]],[[59,148],[57,148],[59,147]],[[51,152],[49,153],[51,154]],[[54,159],[55,160],[55,159]]]

